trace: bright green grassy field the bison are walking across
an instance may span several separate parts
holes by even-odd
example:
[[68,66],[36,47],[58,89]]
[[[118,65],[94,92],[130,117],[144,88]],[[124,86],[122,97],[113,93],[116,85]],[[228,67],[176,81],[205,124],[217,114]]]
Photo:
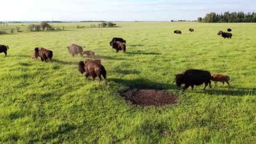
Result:
[[[53,24],[65,30],[48,32],[28,32],[28,24],[0,27],[23,31],[0,35],[0,44],[9,45],[7,57],[0,53],[0,143],[255,143],[256,24],[77,24],[91,23]],[[227,28],[231,40],[217,36]],[[115,53],[112,37],[127,41],[127,53]],[[95,51],[107,85],[85,80],[77,63],[86,57],[72,57],[71,43]],[[52,50],[53,64],[32,61],[35,47]],[[190,68],[229,75],[229,90],[225,84],[181,92],[175,74]],[[119,94],[136,87],[165,89],[179,101],[140,107]]]

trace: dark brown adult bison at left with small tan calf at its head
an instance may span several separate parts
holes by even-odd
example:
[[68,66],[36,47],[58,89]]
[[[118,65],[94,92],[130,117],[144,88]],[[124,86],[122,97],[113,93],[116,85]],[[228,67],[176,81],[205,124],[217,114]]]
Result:
[[45,48],[35,48],[35,55],[41,58],[41,61],[47,62],[47,59],[52,62],[53,51],[47,50]]

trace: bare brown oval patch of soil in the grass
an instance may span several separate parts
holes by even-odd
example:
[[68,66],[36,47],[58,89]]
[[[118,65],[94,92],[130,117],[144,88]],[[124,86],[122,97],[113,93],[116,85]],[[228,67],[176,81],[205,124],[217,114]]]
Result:
[[165,106],[175,104],[177,101],[176,95],[169,94],[167,91],[149,90],[149,89],[131,89],[122,93],[126,100],[132,104],[141,106]]

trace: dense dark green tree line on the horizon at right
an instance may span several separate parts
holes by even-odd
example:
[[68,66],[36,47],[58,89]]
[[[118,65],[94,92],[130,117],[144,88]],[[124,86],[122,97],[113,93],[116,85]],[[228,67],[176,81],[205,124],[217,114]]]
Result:
[[256,13],[254,11],[244,13],[243,11],[231,12],[229,11],[216,14],[207,13],[204,18],[197,18],[197,22],[203,23],[232,23],[232,22],[256,22]]

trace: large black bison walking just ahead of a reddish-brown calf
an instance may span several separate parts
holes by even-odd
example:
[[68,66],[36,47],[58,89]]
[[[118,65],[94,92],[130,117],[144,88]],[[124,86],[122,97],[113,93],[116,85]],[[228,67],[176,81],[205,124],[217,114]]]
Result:
[[194,85],[202,85],[203,83],[205,83],[205,88],[208,84],[211,88],[211,73],[205,70],[188,69],[181,74],[177,74],[175,80],[176,85],[179,87],[182,84],[185,84],[183,91],[185,91],[189,86],[191,86],[193,90]]

